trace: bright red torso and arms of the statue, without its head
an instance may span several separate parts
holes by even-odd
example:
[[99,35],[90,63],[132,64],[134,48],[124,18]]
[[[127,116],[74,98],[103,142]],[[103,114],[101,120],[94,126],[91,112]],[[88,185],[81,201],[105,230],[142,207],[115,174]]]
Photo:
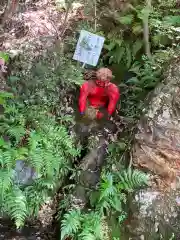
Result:
[[119,100],[120,93],[118,87],[109,83],[106,87],[96,85],[95,81],[86,81],[80,89],[79,110],[84,113],[87,101],[90,106],[95,108],[105,107],[111,115]]

